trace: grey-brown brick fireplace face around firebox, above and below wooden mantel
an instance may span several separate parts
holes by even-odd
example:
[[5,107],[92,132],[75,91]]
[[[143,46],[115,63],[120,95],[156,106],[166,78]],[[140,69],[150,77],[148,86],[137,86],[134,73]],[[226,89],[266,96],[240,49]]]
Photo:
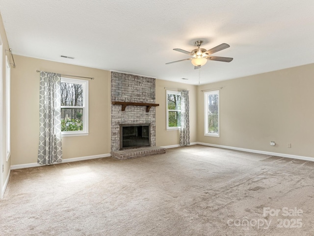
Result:
[[[156,103],[155,78],[111,72],[111,102]],[[111,152],[120,150],[120,125],[149,124],[150,144],[156,146],[156,107],[111,104]]]

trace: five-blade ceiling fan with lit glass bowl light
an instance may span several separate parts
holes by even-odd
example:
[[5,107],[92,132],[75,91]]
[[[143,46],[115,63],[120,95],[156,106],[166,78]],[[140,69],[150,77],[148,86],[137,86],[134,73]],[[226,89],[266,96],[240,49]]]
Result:
[[[173,50],[192,56],[193,58],[188,58],[188,59],[183,59],[183,60],[191,60],[192,64],[194,65],[194,69],[201,68],[202,65],[206,64],[207,60],[218,60],[218,61],[224,61],[224,62],[230,62],[233,60],[233,58],[211,56],[211,54],[213,53],[229,48],[230,47],[229,44],[222,43],[212,49],[206,50],[204,48],[200,48],[202,43],[203,41],[201,40],[196,41],[195,44],[198,48],[192,50],[192,52],[188,52],[180,48],[174,48]],[[171,63],[175,63],[175,62],[179,62],[183,60],[176,60],[176,61],[168,62],[166,64],[171,64]]]

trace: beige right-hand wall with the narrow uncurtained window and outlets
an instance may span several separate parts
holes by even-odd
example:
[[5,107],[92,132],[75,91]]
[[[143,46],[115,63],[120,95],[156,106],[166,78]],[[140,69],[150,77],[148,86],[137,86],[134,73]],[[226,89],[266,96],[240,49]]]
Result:
[[[220,138],[204,136],[204,93],[220,90]],[[314,64],[198,87],[198,142],[314,157]],[[275,141],[276,146],[269,145]],[[287,144],[291,148],[287,148]]]

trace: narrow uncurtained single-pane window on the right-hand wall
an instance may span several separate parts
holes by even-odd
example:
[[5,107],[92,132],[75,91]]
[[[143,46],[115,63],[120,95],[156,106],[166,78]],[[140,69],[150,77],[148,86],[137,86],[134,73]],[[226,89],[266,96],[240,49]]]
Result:
[[205,92],[205,136],[219,137],[219,90]]

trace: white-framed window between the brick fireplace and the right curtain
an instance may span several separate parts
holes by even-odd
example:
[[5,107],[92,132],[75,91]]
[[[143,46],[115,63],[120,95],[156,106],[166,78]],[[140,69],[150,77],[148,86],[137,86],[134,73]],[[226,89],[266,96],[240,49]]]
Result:
[[180,129],[181,92],[167,90],[167,129]]

